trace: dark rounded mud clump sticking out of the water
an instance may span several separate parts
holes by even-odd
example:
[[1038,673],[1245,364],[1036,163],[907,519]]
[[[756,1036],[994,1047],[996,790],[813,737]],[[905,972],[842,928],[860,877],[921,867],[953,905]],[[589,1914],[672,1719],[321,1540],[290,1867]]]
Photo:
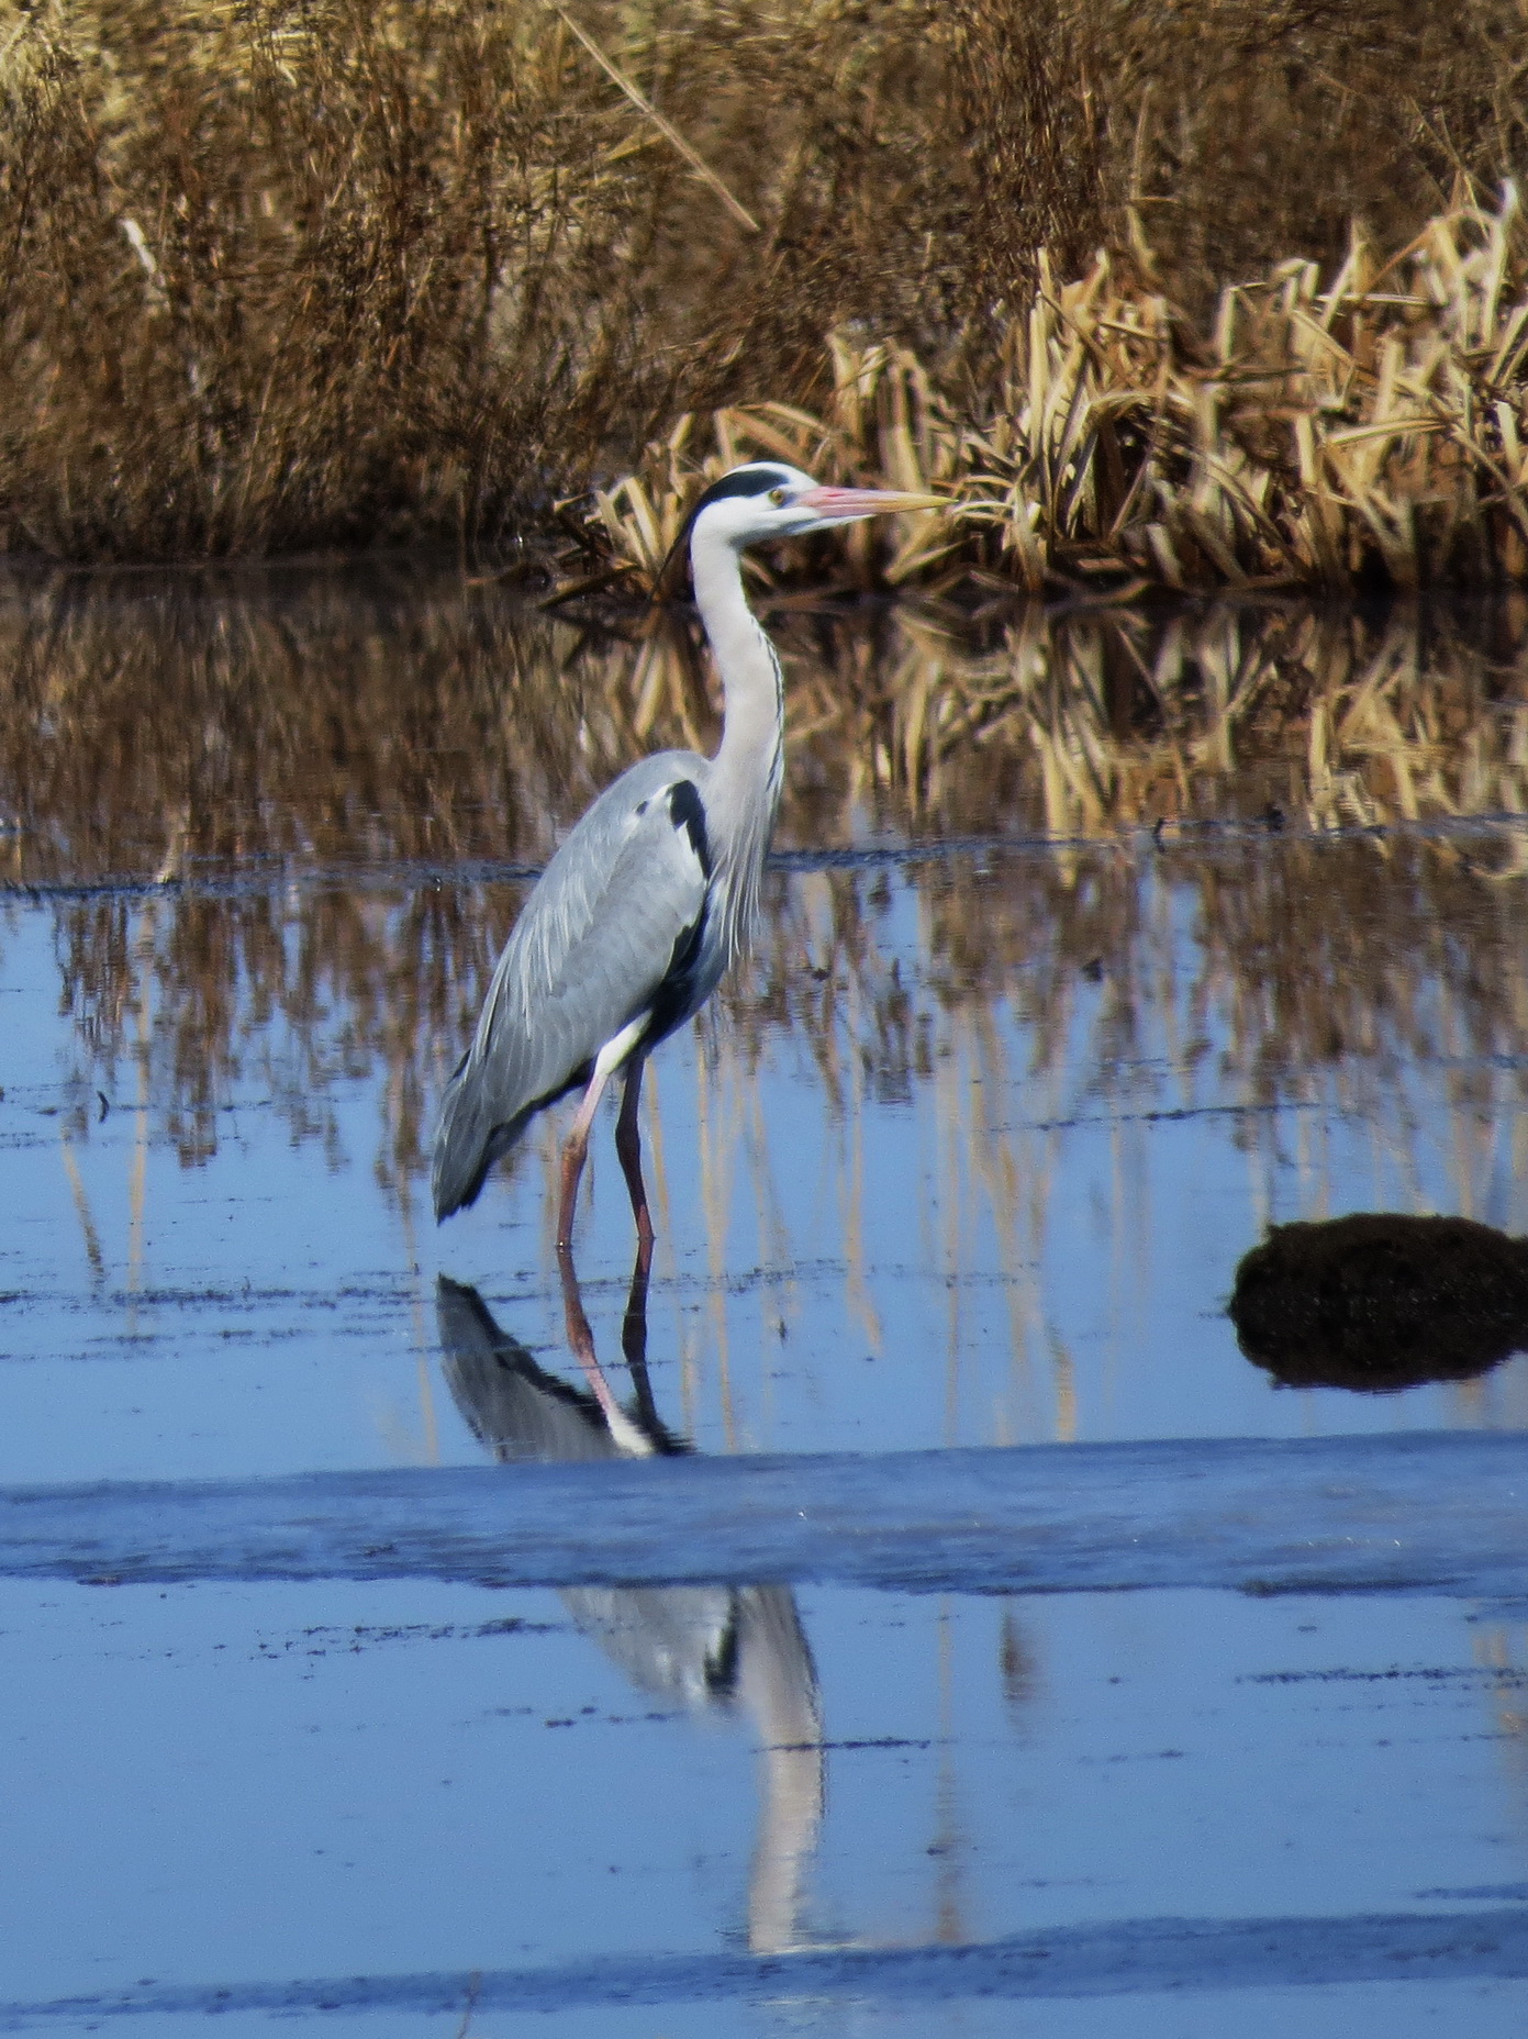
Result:
[[1228,1315],[1287,1387],[1469,1380],[1528,1350],[1528,1240],[1467,1217],[1275,1225],[1236,1268]]

